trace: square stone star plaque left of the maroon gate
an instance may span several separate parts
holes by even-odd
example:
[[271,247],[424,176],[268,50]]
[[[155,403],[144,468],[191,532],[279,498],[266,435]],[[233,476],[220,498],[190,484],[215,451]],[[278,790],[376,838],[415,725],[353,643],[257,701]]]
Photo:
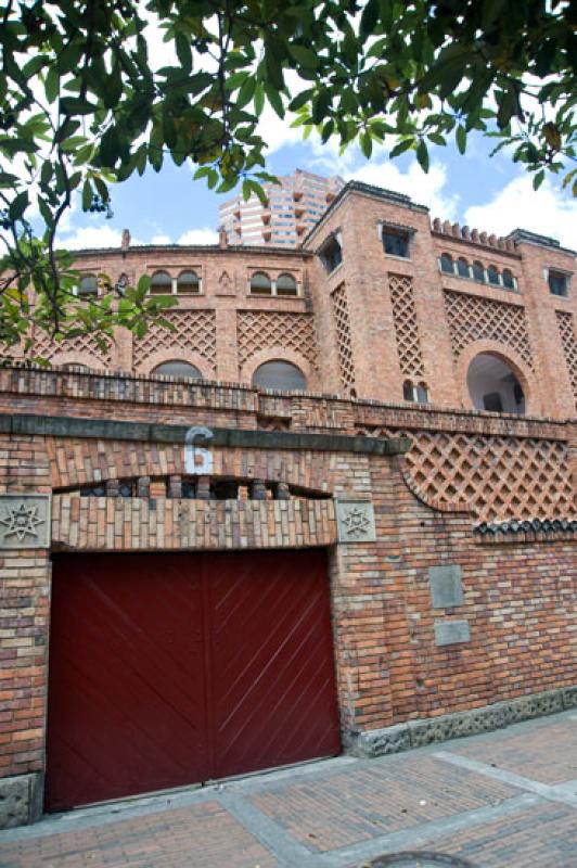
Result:
[[50,495],[0,495],[0,549],[47,549],[50,537]]

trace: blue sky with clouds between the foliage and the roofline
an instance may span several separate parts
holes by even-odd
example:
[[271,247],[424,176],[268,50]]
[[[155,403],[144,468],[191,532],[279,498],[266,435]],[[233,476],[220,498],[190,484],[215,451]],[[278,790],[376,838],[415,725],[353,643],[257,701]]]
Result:
[[[535,193],[530,177],[501,152],[489,157],[495,140],[479,135],[470,138],[461,156],[456,146],[436,148],[425,175],[412,154],[390,161],[388,150],[377,149],[367,161],[358,149],[339,156],[336,144],[306,142],[297,129],[281,123],[272,112],[262,118],[264,138],[270,143],[268,169],[288,174],[295,168],[319,174],[339,174],[379,187],[408,193],[428,205],[432,217],[457,220],[479,230],[505,234],[516,227],[557,238],[577,246],[577,202],[561,179],[546,181]],[[218,226],[220,196],[204,181],[193,181],[193,167],[177,168],[167,162],[156,175],[148,170],[113,188],[114,217],[82,214],[77,204],[66,219],[60,240],[69,247],[116,246],[128,228],[133,243],[213,243]]]

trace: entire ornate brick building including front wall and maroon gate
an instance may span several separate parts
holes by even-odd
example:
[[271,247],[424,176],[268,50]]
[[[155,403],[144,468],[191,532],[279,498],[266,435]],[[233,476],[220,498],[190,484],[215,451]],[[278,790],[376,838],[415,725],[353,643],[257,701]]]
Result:
[[3,825],[575,706],[572,252],[350,183],[78,266],[180,305],[0,370]]

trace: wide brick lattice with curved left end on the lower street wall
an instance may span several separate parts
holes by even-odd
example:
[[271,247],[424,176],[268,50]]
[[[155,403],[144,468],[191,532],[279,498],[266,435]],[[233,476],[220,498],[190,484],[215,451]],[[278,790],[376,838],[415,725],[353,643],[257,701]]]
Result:
[[398,429],[359,433],[411,438],[407,469],[425,502],[465,501],[479,522],[575,516],[566,443]]

